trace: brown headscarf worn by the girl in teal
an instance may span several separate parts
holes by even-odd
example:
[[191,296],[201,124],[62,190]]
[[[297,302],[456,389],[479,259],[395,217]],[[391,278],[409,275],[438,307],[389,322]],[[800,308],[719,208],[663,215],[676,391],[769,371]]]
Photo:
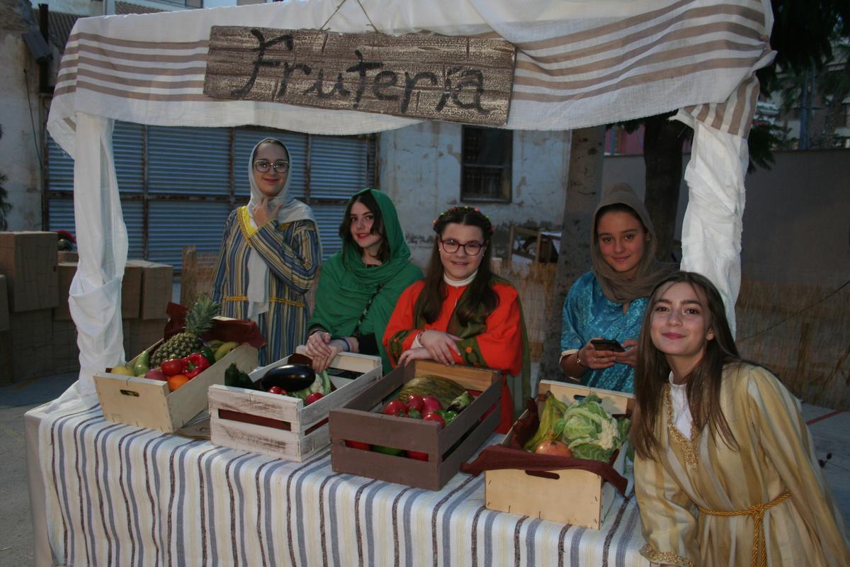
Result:
[[[598,220],[599,210],[618,203],[631,208],[641,219],[649,235],[652,236],[649,242],[647,242],[646,251],[643,252],[643,258],[641,258],[640,264],[638,264],[638,270],[632,277],[621,275],[605,262],[602,252],[599,252],[599,243],[596,237],[596,222]],[[653,227],[652,221],[649,220],[649,211],[643,205],[643,201],[632,190],[632,187],[625,183],[618,183],[607,187],[602,193],[598,207],[593,211],[590,253],[593,264],[593,275],[596,276],[599,285],[602,286],[602,292],[605,294],[605,297],[615,303],[631,303],[637,298],[649,297],[655,284],[663,280],[666,275],[672,274],[672,272],[678,269],[676,264],[656,260],[655,252],[657,248],[658,243],[655,238],[655,227]]]

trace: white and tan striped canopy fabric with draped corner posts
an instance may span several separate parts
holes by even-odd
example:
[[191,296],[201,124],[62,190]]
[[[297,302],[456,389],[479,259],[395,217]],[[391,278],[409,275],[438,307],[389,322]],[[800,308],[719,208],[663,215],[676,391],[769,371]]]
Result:
[[93,399],[94,372],[122,359],[117,306],[127,232],[112,161],[113,121],[326,134],[417,122],[207,98],[211,26],[502,37],[518,48],[506,128],[582,128],[679,109],[677,119],[695,128],[683,267],[715,281],[734,315],[745,136],[758,94],[753,73],[773,60],[772,25],[768,0],[289,0],[77,20],[48,118],[51,135],[75,158],[80,254],[71,285],[80,380],[61,402]]

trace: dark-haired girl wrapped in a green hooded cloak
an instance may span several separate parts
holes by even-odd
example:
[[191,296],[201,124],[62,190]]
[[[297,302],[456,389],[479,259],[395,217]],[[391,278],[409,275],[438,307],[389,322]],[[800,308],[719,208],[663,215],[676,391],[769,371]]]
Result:
[[422,269],[411,262],[393,201],[382,191],[351,197],[339,235],[343,249],[328,258],[319,278],[307,354],[316,371],[343,351],[380,354],[389,371],[383,331],[401,292],[422,279]]

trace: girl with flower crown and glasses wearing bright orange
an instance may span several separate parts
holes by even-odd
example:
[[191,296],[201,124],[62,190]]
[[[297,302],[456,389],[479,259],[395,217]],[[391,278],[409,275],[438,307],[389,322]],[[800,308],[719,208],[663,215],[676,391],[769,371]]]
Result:
[[[490,219],[473,207],[451,207],[434,221],[425,279],[401,294],[383,343],[394,365],[437,360],[522,376],[530,397],[528,340],[519,293],[490,268]],[[519,394],[519,393],[518,393]],[[513,424],[513,398],[502,381],[499,433]]]

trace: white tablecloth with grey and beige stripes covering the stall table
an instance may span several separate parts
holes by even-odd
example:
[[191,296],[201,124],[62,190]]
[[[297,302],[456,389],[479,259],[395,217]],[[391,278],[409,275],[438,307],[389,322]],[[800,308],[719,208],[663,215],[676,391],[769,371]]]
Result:
[[[494,435],[490,442],[501,436]],[[39,451],[59,565],[648,565],[638,509],[602,530],[484,508],[484,475],[434,492],[104,420],[45,417]]]

